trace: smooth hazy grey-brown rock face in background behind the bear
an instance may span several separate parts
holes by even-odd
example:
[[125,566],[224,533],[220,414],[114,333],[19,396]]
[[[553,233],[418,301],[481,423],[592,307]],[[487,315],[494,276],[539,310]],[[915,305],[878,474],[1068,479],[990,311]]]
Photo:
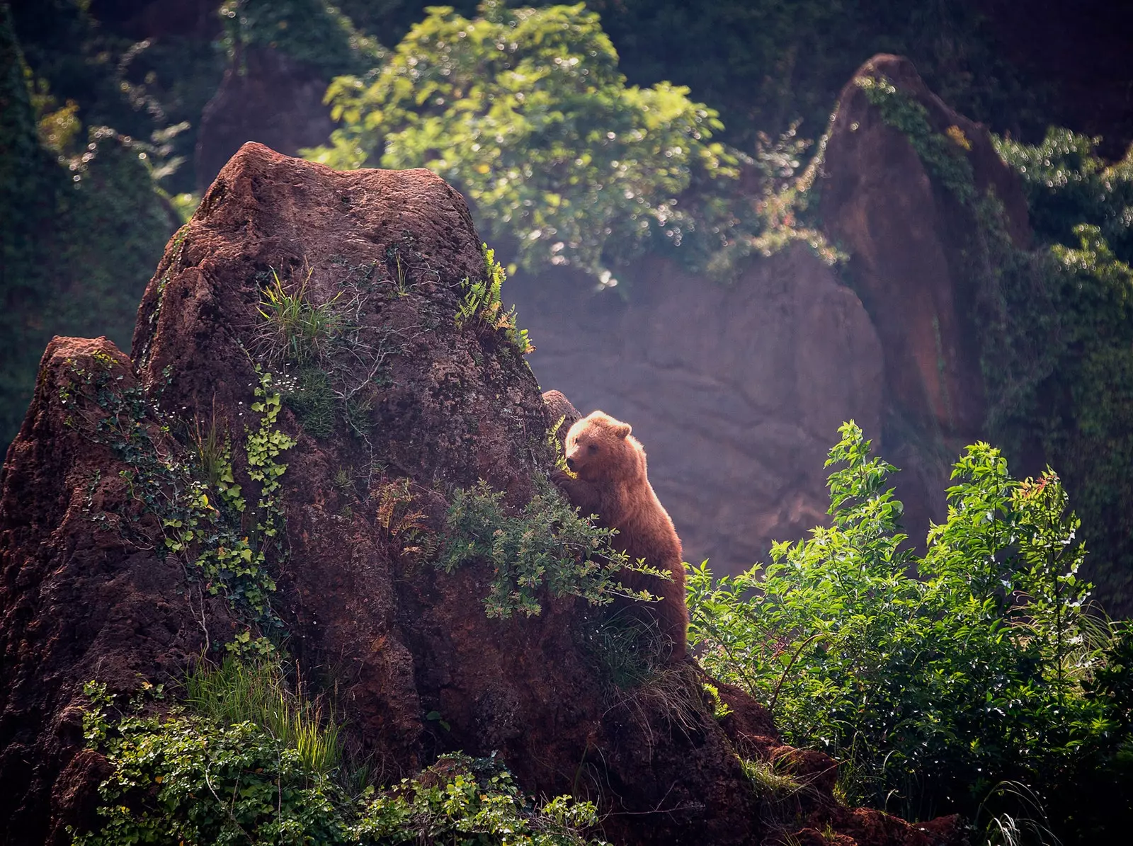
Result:
[[857,294],[802,248],[730,287],[653,258],[628,300],[569,273],[506,296],[531,369],[583,413],[633,425],[687,561],[750,566],[825,520],[823,462],[843,420],[880,438],[881,344]]

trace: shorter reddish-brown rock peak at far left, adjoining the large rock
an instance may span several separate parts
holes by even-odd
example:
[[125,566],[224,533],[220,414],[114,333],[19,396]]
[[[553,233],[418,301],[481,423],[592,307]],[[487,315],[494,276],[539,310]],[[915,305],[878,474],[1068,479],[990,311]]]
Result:
[[3,844],[70,843],[105,760],[83,747],[83,684],[133,691],[185,674],[223,603],[157,554],[161,524],[131,489],[126,433],[148,425],[130,360],[105,337],[56,337],[0,472],[0,831]]

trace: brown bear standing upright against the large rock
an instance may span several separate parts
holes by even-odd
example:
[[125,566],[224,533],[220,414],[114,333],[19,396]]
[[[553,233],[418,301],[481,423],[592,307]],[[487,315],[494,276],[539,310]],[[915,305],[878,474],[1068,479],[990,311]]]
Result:
[[613,545],[631,561],[672,574],[672,580],[623,571],[621,582],[631,590],[648,590],[659,603],[648,608],[661,632],[673,642],[671,660],[684,658],[689,615],[684,605],[684,565],[681,539],[646,476],[645,450],[630,435],[630,425],[603,411],[583,417],[566,433],[566,467],[552,477],[571,504],[585,514],[597,514],[607,529],[616,529]]

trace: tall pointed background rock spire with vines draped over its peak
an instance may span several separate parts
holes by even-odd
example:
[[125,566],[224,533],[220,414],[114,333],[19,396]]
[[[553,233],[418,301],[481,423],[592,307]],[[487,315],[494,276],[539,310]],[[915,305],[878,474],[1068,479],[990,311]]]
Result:
[[898,55],[874,57],[842,89],[819,183],[825,229],[850,254],[881,342],[886,458],[920,477],[898,481],[915,536],[944,516],[953,456],[985,436],[974,207],[994,195],[1024,246],[1026,200],[988,130]]

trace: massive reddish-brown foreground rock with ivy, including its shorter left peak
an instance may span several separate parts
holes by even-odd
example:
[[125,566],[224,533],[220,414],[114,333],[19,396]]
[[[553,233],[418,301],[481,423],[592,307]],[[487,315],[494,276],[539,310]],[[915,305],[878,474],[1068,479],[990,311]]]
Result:
[[[5,846],[95,821],[108,762],[83,749],[85,682],[176,691],[199,650],[257,626],[326,680],[381,784],[462,750],[502,759],[526,794],[594,800],[616,844],[960,841],[951,818],[840,805],[834,761],[784,746],[734,687],[714,703],[691,660],[638,687],[604,681],[582,600],[488,618],[486,562],[433,565],[455,488],[484,479],[523,505],[553,467],[547,416],[570,405],[545,408],[499,311],[457,325],[489,274],[465,202],[428,171],[339,173],[247,144],[171,239],[133,359],[52,342],[0,492]],[[318,326],[281,342],[273,292]],[[193,485],[218,465],[240,488],[214,479],[202,499]],[[245,506],[238,529],[258,527],[258,622],[246,595],[204,581],[213,541],[178,546],[225,496]],[[279,542],[263,529],[275,512]],[[798,792],[746,775],[773,760]]]

